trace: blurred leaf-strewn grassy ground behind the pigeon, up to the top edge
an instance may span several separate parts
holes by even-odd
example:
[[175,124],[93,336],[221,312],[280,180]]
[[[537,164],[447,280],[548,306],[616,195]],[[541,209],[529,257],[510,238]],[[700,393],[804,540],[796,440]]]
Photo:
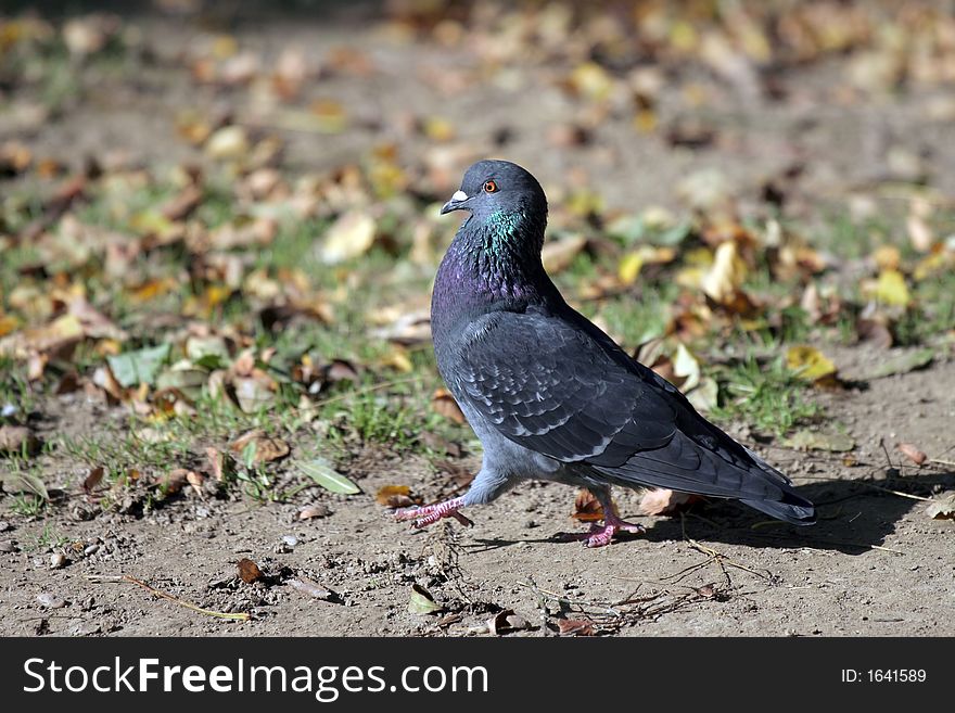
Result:
[[429,302],[482,157],[545,187],[568,300],[735,435],[941,457],[953,8],[7,0],[0,508],[464,485]]

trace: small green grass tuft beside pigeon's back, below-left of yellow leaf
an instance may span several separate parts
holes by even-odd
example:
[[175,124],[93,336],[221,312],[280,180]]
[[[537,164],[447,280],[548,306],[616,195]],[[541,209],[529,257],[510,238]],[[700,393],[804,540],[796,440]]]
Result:
[[766,364],[748,358],[722,369],[716,378],[727,397],[711,411],[716,420],[737,419],[781,436],[822,413],[822,407],[807,396],[808,385],[781,357]]

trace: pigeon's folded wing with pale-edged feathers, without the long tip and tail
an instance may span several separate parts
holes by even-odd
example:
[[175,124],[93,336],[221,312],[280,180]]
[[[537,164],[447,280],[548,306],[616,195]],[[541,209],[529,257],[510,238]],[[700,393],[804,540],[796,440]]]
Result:
[[[666,445],[676,412],[620,355],[573,322],[491,313],[466,330],[453,379],[512,441],[564,462]],[[635,418],[637,417],[637,418]]]

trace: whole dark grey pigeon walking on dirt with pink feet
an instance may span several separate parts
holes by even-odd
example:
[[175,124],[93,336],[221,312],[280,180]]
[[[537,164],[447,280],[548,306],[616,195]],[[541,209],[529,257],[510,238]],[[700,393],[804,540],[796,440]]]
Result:
[[453,211],[470,215],[438,267],[431,328],[438,370],[483,462],[463,496],[396,510],[396,519],[470,523],[461,508],[543,480],[598,499],[602,525],[578,535],[589,547],[644,530],[619,517],[614,485],[734,498],[788,523],[815,521],[786,475],[568,305],[540,259],[547,199],[527,170],[475,163],[441,213]]

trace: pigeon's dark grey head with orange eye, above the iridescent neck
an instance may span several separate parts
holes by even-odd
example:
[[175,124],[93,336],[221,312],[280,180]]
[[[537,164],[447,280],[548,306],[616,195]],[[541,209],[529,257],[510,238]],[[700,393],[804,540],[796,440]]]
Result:
[[509,161],[479,161],[464,174],[461,188],[444,204],[442,215],[470,211],[480,221],[504,217],[520,224],[524,218],[543,221],[547,199],[540,183]]

